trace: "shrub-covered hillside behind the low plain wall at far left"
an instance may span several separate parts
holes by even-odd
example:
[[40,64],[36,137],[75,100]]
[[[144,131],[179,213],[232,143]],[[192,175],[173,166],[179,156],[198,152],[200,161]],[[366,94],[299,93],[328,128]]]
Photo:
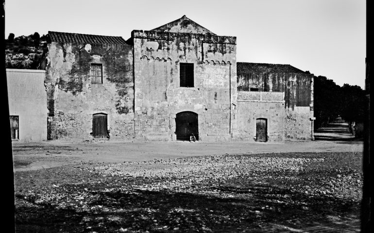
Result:
[[46,46],[47,35],[34,33],[15,37],[14,33],[10,33],[5,39],[5,67],[37,69]]

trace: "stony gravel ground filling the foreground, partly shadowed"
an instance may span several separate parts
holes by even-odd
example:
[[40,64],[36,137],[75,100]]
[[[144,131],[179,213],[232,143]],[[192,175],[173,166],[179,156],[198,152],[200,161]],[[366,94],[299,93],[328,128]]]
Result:
[[361,152],[18,171],[17,232],[359,232]]

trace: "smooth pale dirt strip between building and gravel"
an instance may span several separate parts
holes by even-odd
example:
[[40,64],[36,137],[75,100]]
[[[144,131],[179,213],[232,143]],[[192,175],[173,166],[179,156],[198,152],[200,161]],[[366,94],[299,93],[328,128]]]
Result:
[[280,152],[361,152],[363,142],[287,141],[276,143],[47,141],[13,142],[14,170],[36,170],[81,162],[118,163],[187,156]]

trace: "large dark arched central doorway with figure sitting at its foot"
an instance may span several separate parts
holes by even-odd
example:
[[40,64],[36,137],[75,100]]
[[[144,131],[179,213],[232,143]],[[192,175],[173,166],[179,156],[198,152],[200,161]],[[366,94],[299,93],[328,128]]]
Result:
[[177,140],[189,140],[189,136],[193,133],[196,140],[199,140],[199,123],[198,115],[194,112],[180,112],[175,118],[175,134]]

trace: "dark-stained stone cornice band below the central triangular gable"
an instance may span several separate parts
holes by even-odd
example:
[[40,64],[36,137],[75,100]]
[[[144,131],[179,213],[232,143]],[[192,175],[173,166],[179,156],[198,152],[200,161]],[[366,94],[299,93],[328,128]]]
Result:
[[196,37],[202,40],[204,43],[217,43],[217,44],[237,44],[236,36],[221,36],[221,35],[207,35],[207,34],[196,34],[196,33],[170,33],[170,32],[155,32],[155,31],[143,31],[133,30],[131,37],[133,38],[144,38],[151,40],[174,40],[180,37]]

